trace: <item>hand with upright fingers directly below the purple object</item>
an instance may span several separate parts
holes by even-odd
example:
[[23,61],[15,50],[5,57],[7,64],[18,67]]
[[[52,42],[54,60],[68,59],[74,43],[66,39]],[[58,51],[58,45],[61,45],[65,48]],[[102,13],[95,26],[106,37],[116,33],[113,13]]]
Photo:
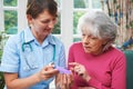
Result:
[[59,73],[55,79],[57,82],[57,89],[70,89],[70,87],[73,83],[73,76],[65,75],[65,73]]

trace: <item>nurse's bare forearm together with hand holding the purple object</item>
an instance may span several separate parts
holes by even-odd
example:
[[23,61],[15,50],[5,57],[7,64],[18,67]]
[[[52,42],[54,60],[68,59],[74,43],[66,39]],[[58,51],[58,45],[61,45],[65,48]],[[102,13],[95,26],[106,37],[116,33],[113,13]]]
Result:
[[41,80],[48,80],[55,76],[59,71],[53,69],[52,66],[44,67],[40,72],[34,73],[27,78],[18,78],[18,73],[4,73],[4,80],[8,89],[25,89]]

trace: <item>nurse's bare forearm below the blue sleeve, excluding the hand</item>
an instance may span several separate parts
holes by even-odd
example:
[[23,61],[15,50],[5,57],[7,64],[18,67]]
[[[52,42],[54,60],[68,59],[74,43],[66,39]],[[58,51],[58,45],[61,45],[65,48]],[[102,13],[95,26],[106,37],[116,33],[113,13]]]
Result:
[[40,81],[37,75],[28,78],[18,78],[18,73],[4,73],[4,80],[8,89],[25,89]]

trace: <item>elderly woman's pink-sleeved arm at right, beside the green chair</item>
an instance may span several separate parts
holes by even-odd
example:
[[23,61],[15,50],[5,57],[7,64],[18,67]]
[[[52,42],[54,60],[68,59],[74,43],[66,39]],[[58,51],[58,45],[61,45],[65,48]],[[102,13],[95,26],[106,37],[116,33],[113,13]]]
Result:
[[115,62],[112,72],[112,88],[126,89],[126,60],[124,55]]

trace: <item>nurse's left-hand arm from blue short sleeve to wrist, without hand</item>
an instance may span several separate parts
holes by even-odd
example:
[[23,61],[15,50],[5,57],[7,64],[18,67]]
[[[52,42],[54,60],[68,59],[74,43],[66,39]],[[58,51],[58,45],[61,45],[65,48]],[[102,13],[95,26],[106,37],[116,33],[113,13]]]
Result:
[[0,70],[4,72],[4,80],[8,89],[22,89],[35,82],[39,82],[38,80],[39,78],[37,78],[37,75],[23,79],[18,78],[20,55],[18,52],[17,41],[19,38],[17,38],[16,40],[13,39],[14,37],[11,37],[7,41],[2,55],[2,62]]

